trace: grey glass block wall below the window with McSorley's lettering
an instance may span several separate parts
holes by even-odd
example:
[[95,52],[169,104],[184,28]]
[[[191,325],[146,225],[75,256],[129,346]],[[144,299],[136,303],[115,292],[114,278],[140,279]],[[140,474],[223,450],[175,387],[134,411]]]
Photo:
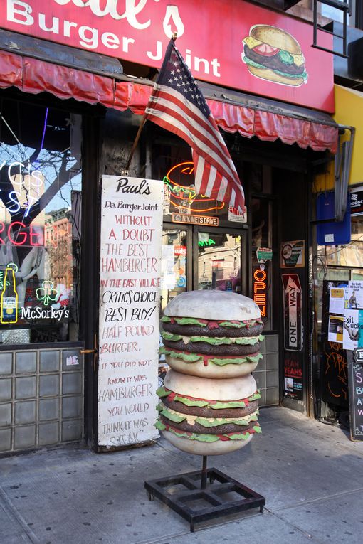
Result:
[[79,350],[0,352],[0,454],[83,438]]

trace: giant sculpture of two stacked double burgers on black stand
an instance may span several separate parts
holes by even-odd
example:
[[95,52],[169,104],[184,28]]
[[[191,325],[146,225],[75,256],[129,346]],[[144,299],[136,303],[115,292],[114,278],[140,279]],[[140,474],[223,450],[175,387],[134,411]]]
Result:
[[191,291],[162,317],[162,353],[171,367],[157,390],[156,427],[184,452],[233,452],[261,432],[256,381],[263,324],[241,294]]

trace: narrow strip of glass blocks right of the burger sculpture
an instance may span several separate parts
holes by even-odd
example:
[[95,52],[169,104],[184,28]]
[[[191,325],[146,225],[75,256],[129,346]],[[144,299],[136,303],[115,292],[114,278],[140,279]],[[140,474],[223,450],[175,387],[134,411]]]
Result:
[[277,405],[278,390],[278,334],[266,334],[261,346],[263,358],[253,372],[257,387],[261,391],[260,406]]

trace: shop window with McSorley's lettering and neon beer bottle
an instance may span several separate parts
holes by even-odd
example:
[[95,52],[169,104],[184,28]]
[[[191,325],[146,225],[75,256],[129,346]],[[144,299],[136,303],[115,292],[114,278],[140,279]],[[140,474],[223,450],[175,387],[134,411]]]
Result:
[[0,342],[77,341],[81,118],[0,111]]

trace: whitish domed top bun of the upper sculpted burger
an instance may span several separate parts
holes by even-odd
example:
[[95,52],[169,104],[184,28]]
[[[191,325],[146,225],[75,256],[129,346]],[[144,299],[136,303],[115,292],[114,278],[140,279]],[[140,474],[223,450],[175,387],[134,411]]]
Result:
[[259,319],[256,302],[243,294],[226,291],[188,291],[174,297],[164,310],[169,317],[196,317],[211,321]]

